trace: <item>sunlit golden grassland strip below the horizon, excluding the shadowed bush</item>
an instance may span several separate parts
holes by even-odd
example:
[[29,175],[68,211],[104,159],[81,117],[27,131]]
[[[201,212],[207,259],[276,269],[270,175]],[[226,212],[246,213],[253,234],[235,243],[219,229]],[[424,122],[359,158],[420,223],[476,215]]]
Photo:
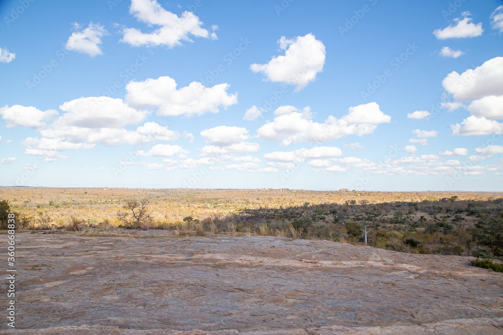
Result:
[[[438,200],[458,196],[459,200],[487,201],[503,192],[366,192],[309,191],[291,189],[130,189],[0,187],[0,199],[7,199],[14,211],[27,217],[50,216],[57,226],[70,216],[89,224],[108,219],[118,225],[116,214],[128,197],[148,198],[149,214],[159,222],[178,224],[186,216],[202,219],[213,214],[239,213],[245,209],[300,207],[316,204],[383,203]],[[363,201],[363,202],[362,202]]]

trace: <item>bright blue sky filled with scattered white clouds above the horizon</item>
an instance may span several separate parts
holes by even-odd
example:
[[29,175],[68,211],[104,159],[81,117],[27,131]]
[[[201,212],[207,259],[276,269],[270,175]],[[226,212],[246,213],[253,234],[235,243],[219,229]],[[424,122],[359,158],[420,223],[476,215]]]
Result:
[[503,191],[503,2],[0,3],[0,184]]

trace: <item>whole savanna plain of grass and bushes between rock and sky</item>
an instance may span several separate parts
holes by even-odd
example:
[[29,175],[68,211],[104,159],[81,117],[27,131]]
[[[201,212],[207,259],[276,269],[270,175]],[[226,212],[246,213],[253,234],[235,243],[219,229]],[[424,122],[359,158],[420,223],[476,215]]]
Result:
[[31,230],[272,235],[503,260],[502,193],[3,187],[0,199],[0,224],[12,210]]

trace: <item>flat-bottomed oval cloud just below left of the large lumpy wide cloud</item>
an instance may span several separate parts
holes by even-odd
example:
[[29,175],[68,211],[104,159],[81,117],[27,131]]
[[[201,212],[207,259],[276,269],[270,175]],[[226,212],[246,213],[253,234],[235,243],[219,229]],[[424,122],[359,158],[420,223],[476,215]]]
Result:
[[83,128],[121,128],[141,122],[146,113],[108,96],[81,97],[59,106],[66,111],[55,123]]

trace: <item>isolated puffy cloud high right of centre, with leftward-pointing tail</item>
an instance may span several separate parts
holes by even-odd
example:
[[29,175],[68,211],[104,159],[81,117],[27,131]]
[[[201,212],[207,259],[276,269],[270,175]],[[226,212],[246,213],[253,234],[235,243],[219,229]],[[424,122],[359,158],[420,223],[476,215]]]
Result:
[[278,41],[285,55],[273,57],[267,64],[251,64],[254,73],[262,72],[268,80],[296,85],[300,91],[309,82],[316,79],[316,74],[325,64],[325,46],[316,40],[313,34]]

